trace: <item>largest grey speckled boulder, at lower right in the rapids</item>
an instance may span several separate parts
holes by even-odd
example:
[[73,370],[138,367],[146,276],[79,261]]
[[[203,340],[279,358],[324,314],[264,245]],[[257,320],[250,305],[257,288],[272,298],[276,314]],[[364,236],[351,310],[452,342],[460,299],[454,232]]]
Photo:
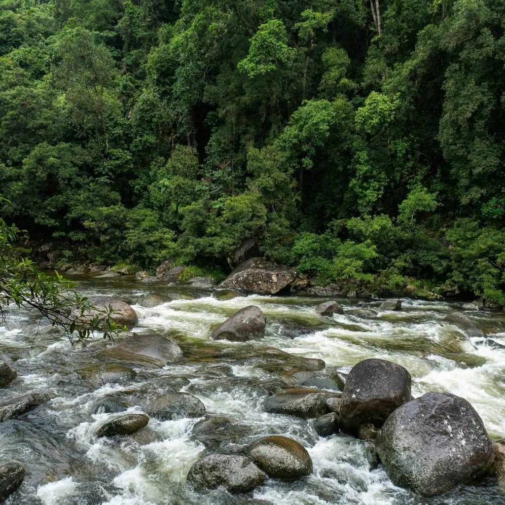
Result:
[[388,477],[437,496],[487,470],[494,449],[481,418],[464,398],[426,393],[396,409],[376,440]]

